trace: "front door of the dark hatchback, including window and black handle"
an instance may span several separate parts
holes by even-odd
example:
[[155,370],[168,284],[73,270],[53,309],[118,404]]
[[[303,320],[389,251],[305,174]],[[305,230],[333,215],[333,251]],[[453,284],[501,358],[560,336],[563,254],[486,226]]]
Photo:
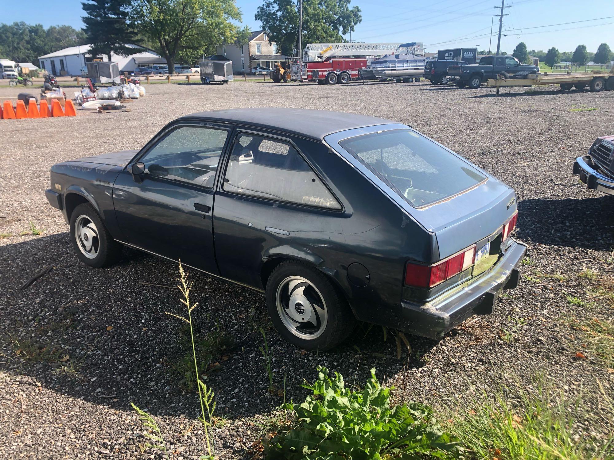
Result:
[[213,250],[214,186],[230,130],[204,123],[170,126],[115,180],[113,203],[123,242],[218,274]]

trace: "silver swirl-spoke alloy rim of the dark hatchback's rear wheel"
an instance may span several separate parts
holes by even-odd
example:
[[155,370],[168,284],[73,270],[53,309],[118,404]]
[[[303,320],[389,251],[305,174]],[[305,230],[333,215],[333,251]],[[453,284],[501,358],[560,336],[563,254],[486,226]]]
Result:
[[303,340],[317,339],[328,323],[328,310],[320,291],[306,278],[292,275],[279,283],[276,307],[283,325]]

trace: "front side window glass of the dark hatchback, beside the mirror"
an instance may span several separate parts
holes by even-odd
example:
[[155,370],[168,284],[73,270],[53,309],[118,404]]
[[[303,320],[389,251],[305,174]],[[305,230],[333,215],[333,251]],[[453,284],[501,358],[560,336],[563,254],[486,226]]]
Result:
[[140,161],[152,176],[212,188],[227,137],[225,129],[180,126],[166,134]]

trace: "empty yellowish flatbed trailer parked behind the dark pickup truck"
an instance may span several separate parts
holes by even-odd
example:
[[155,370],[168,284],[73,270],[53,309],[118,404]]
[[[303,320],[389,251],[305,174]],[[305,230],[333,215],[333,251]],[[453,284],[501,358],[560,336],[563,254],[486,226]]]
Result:
[[487,88],[511,88],[513,86],[537,86],[537,85],[560,85],[561,91],[569,91],[572,88],[583,90],[586,86],[591,88],[591,91],[612,91],[614,90],[614,68],[608,73],[603,71],[583,72],[572,74],[543,74],[527,75],[526,79],[503,79],[499,78],[486,80]]

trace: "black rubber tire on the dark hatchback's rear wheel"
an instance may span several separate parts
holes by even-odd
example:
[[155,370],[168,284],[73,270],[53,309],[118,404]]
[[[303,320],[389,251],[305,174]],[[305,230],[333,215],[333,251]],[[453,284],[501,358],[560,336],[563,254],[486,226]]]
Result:
[[[311,293],[316,296],[316,299],[319,297],[321,301],[324,302],[327,318],[326,323],[321,329],[315,328],[319,335],[313,339],[299,337],[294,332],[290,331],[289,326],[286,326],[284,321],[292,324],[298,323],[293,320],[288,320],[287,318],[290,317],[289,315],[285,318],[280,316],[277,302],[278,290],[281,290],[280,296],[283,296],[284,294],[282,293],[285,291],[284,285],[290,277],[300,277],[306,280],[308,283],[298,283],[298,286],[301,284],[306,286],[305,290],[302,292],[307,293],[309,289]],[[293,289],[296,289],[296,286],[297,285],[295,285]],[[317,291],[313,288],[317,289]],[[309,301],[308,296],[305,296],[305,299]],[[284,309],[284,305],[286,304],[280,302],[279,308]],[[294,305],[294,308],[298,309],[298,307],[301,306],[303,305],[297,303]],[[339,289],[333,285],[331,280],[309,264],[298,261],[282,262],[273,270],[266,282],[266,308],[279,334],[288,342],[297,347],[304,348],[305,350],[330,350],[330,348],[335,348],[348,337],[356,325],[354,313],[352,313],[343,295],[340,293]],[[288,305],[285,309],[288,310],[292,308],[290,299],[288,299]],[[296,311],[298,312],[298,310]],[[303,312],[305,311],[305,306],[303,306]],[[299,314],[303,314],[303,312]],[[322,316],[320,316],[320,318],[321,317]],[[294,330],[297,331],[299,327],[300,326],[296,326]]]

